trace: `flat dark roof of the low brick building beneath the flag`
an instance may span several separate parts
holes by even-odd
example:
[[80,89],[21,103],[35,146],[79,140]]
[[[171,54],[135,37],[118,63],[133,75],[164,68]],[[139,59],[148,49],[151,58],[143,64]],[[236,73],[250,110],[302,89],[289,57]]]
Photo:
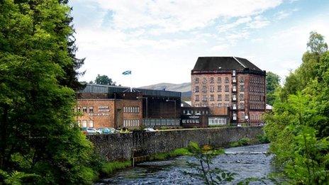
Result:
[[[118,93],[128,92],[130,90],[127,86],[108,86],[99,84],[87,84],[84,89],[79,90],[79,93]],[[160,91],[152,89],[133,89],[135,92],[140,92],[145,96],[167,96],[167,97],[181,97],[182,93],[177,91]]]

